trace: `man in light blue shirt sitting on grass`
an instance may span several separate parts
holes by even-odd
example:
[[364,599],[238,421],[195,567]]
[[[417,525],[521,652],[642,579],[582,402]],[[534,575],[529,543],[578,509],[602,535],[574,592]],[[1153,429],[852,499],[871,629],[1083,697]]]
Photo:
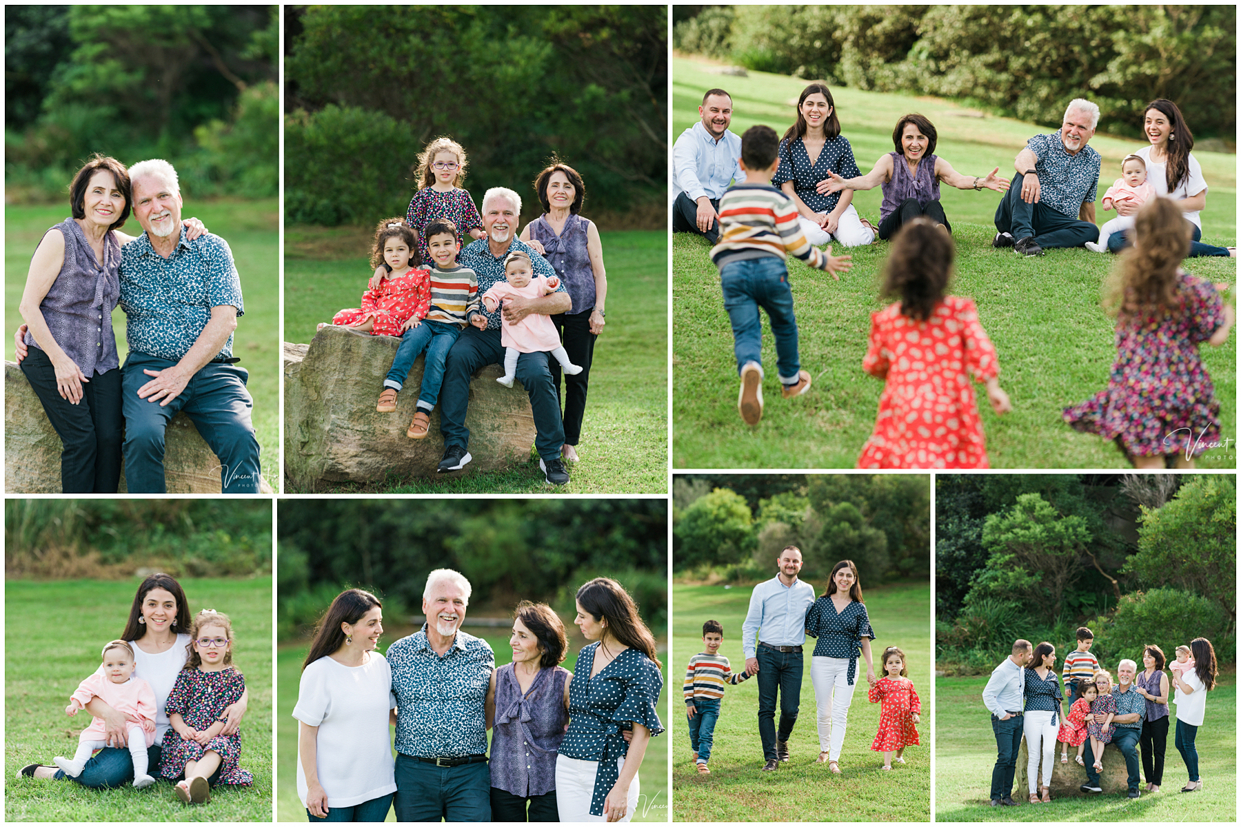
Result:
[[709,89],[699,107],[701,122],[673,144],[673,232],[697,233],[715,244],[720,241],[720,196],[733,181],[741,181],[741,138],[728,130],[732,97],[724,89]]

